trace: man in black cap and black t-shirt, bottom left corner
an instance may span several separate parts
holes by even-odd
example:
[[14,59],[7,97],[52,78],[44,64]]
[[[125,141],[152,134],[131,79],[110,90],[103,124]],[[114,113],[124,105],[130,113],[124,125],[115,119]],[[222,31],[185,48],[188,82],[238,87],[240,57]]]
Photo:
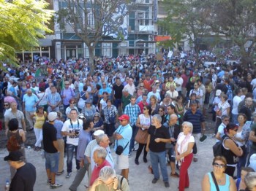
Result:
[[36,168],[24,161],[22,152],[12,151],[4,157],[4,161],[8,161],[10,167],[16,170],[10,184],[10,191],[33,191],[37,179]]

